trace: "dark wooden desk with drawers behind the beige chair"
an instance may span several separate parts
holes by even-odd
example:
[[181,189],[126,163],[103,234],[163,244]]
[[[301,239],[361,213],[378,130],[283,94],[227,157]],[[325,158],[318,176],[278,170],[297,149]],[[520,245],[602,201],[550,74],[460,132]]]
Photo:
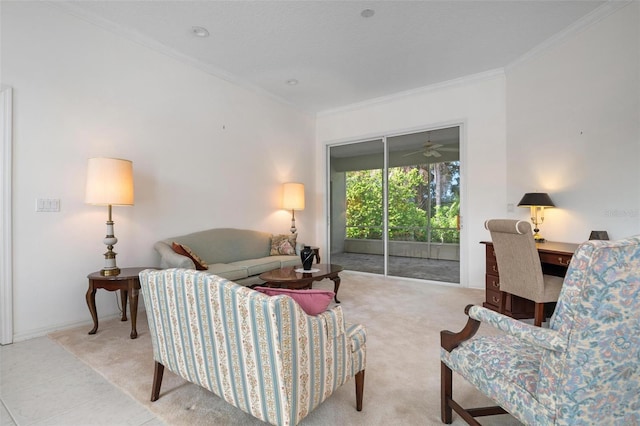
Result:
[[[493,250],[491,241],[481,241],[480,243],[486,245],[486,294],[485,302],[482,306],[494,311],[500,311],[502,293],[500,291],[500,274],[498,273],[496,253]],[[542,272],[547,275],[564,277],[578,244],[547,241],[537,243],[536,247],[540,254]],[[518,319],[533,318],[534,303],[531,300],[508,294],[506,302],[505,314]]]

